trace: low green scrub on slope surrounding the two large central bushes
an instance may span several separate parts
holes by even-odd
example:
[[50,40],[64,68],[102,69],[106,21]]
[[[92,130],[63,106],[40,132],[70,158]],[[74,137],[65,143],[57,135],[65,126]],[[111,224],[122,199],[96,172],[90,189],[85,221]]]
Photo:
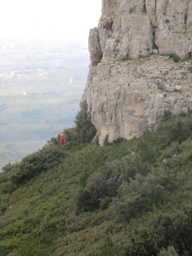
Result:
[[[166,126],[165,129],[167,129]],[[5,208],[10,206],[0,220],[2,255],[24,255],[18,249],[22,249],[23,243],[26,246],[29,245],[27,237],[31,236],[35,241],[37,239],[37,243],[48,248],[52,256],[83,256],[93,248],[99,250],[106,235],[110,235],[119,248],[126,252],[126,255],[141,255],[141,252],[131,254],[131,251],[135,250],[134,246],[139,248],[142,239],[146,239],[144,244],[148,247],[143,247],[142,255],[152,255],[151,252],[155,251],[154,245],[153,249],[150,248],[150,243],[157,244],[156,252],[160,249],[158,244],[163,244],[158,240],[163,239],[163,235],[161,235],[163,231],[159,229],[161,224],[159,222],[155,227],[154,223],[160,218],[159,216],[167,216],[168,219],[169,215],[172,215],[174,223],[177,224],[174,224],[177,229],[174,225],[171,226],[173,233],[178,233],[181,238],[185,234],[189,237],[188,232],[192,231],[192,139],[189,134],[186,134],[182,137],[180,144],[173,143],[170,139],[167,145],[160,145],[160,141],[166,144],[166,136],[170,137],[168,133],[167,131],[165,134],[165,130],[162,130],[155,136],[146,134],[139,139],[122,141],[109,146],[85,145],[74,152],[71,150],[69,156],[58,167],[41,173],[17,189],[14,189],[9,181],[9,173],[2,175],[1,205],[4,205]],[[177,141],[178,138],[180,139],[177,137],[173,140]],[[118,218],[112,214],[111,206],[106,210],[97,209],[76,215],[74,213],[74,196],[86,171],[91,169],[94,172],[99,166],[104,165],[108,157],[121,159],[132,151],[137,151],[142,156],[143,164],[148,166],[148,172],[161,167],[174,173],[174,181],[177,183],[174,191],[164,198],[160,205],[152,205],[147,211],[131,217],[128,222],[118,222]],[[10,188],[12,191],[8,192]],[[179,212],[178,216],[174,216],[182,207],[186,208],[185,212],[188,216],[188,219],[185,219],[186,227],[184,227],[184,221],[179,217],[181,216]],[[163,218],[161,217],[161,219]],[[178,224],[180,221],[181,224]],[[168,224],[166,225],[168,226]],[[164,229],[167,228],[166,225]],[[169,223],[169,225],[171,224]],[[151,239],[149,230],[152,233]],[[166,243],[171,244],[171,241],[166,241]],[[175,248],[178,249],[176,245]],[[43,255],[43,249],[39,247],[39,250]]]

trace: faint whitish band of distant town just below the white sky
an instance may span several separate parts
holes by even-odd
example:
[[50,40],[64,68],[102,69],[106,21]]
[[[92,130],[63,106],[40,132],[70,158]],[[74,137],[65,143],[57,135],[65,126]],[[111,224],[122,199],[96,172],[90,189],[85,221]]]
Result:
[[86,41],[0,38],[1,79],[35,69],[85,68],[89,62]]

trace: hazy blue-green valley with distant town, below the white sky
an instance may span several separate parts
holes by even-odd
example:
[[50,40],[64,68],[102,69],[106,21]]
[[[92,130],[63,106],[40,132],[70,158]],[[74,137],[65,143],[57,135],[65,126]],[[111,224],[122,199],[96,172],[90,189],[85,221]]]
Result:
[[80,110],[86,46],[39,44],[0,44],[0,171],[71,127]]

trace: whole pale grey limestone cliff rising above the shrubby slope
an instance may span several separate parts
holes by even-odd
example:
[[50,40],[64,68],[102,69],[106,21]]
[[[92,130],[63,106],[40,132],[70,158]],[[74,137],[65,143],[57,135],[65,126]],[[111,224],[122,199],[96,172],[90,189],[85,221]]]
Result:
[[155,129],[165,110],[192,109],[191,0],[103,0],[89,52],[80,106],[87,101],[101,145],[106,135],[130,139]]

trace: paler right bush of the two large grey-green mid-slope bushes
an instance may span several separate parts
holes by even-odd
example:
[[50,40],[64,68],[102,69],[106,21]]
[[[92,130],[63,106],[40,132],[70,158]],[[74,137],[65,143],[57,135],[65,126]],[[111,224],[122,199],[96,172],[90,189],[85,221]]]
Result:
[[130,183],[123,182],[117,189],[112,206],[118,220],[129,220],[143,213],[153,204],[161,205],[177,187],[174,175],[163,169],[153,170],[146,177],[136,174]]

